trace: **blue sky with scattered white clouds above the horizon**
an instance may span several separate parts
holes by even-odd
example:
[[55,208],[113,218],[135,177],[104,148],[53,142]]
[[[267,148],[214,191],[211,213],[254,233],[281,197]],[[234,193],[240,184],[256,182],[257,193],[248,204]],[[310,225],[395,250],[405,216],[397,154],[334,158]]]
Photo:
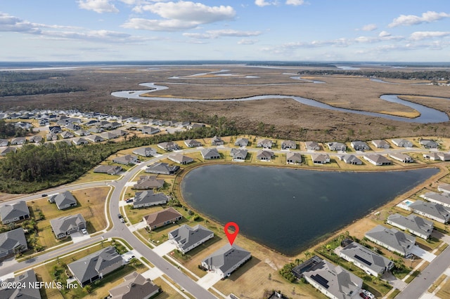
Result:
[[449,0],[1,0],[0,61],[450,62]]

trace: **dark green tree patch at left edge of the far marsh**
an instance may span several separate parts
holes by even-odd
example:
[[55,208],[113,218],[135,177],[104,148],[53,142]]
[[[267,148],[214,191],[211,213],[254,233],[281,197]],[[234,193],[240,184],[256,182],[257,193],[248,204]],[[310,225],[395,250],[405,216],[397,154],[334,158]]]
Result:
[[61,84],[36,83],[0,83],[0,96],[9,95],[41,95],[46,93],[70,93],[72,91],[86,91],[82,86],[65,86]]

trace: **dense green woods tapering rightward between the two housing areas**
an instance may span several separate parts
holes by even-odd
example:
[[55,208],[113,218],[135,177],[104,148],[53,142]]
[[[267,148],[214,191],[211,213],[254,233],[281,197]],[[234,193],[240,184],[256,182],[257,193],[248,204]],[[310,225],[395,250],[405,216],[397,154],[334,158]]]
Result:
[[[237,135],[233,128],[227,132]],[[66,142],[25,145],[0,159],[0,192],[30,193],[72,182],[117,151],[171,140],[221,135],[217,127],[203,127],[148,138],[135,136],[122,142],[75,147]]]

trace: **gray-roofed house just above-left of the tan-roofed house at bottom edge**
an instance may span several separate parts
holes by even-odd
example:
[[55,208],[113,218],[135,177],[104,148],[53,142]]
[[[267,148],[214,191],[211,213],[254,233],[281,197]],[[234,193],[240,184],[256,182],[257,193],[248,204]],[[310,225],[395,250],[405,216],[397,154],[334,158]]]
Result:
[[81,286],[86,286],[120,268],[123,258],[113,246],[108,246],[68,264],[70,272]]

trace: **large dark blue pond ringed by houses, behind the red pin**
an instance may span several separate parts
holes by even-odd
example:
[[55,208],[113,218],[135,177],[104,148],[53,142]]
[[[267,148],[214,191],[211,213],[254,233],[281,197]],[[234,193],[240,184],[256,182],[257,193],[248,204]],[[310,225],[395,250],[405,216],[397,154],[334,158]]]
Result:
[[295,255],[437,172],[426,168],[342,173],[212,165],[188,173],[181,190],[200,213],[222,225],[234,221],[241,234]]

